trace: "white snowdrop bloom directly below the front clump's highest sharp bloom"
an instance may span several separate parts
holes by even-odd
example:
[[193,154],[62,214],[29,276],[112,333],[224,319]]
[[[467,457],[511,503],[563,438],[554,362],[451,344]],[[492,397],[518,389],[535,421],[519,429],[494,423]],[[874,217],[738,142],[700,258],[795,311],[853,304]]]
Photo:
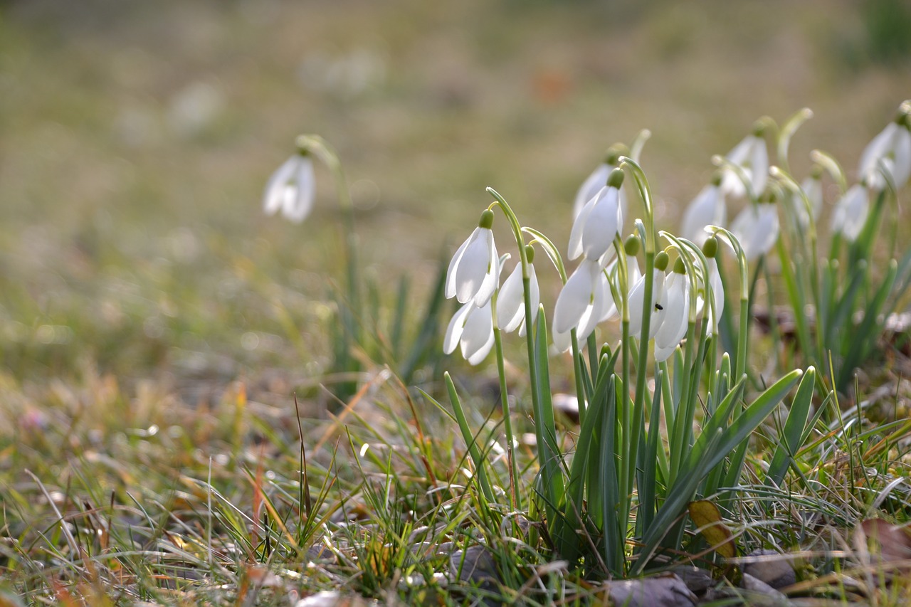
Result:
[[586,258],[569,276],[557,297],[554,308],[554,334],[568,334],[577,329],[579,340],[588,338],[606,310],[610,291],[599,262]]

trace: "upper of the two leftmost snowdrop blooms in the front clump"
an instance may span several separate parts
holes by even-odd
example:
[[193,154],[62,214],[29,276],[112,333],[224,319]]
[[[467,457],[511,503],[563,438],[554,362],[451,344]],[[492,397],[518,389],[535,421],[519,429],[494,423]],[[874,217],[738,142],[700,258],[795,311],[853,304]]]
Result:
[[476,307],[490,301],[500,275],[493,224],[494,211],[481,213],[475,231],[455,252],[446,271],[447,298],[455,297],[460,304],[474,301]]

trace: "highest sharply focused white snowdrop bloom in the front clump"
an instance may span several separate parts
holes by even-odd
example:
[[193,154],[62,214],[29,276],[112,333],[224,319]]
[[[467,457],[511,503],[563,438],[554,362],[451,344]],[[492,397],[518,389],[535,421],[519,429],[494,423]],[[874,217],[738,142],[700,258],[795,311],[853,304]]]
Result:
[[569,259],[585,253],[586,259],[597,260],[608,252],[623,224],[619,205],[622,185],[623,170],[612,170],[608,184],[579,211],[569,233]]

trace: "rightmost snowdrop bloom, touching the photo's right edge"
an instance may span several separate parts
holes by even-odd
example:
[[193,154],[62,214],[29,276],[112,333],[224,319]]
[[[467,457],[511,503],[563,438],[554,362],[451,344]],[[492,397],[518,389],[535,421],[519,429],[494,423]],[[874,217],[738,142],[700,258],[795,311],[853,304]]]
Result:
[[857,166],[858,179],[877,191],[885,188],[880,162],[891,174],[896,190],[901,190],[911,177],[911,109],[900,111],[898,118],[867,144]]

